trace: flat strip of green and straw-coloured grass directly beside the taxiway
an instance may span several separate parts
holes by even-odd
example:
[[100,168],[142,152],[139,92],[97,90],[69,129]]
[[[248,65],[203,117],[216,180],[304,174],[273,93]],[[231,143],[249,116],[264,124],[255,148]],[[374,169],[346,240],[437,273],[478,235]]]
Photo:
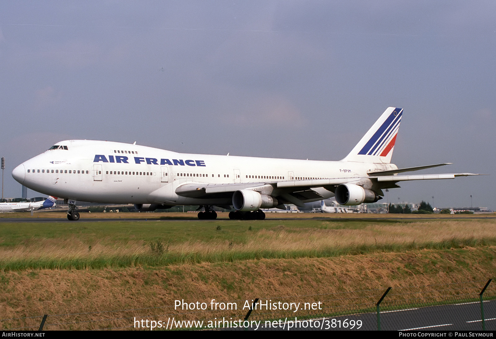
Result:
[[[0,228],[0,269],[161,267],[419,249],[463,251],[466,247],[496,245],[494,221],[453,222],[454,228],[447,229],[446,236],[439,236],[445,226],[438,223],[298,219],[4,223]],[[466,229],[475,229],[474,223],[485,233],[466,236],[470,234]],[[427,240],[434,238],[429,232],[437,234],[435,240]],[[391,237],[392,233],[395,235]],[[419,234],[424,239],[419,239]],[[456,264],[467,267],[469,263],[462,256],[456,258]],[[408,265],[405,269],[412,272],[428,269]]]

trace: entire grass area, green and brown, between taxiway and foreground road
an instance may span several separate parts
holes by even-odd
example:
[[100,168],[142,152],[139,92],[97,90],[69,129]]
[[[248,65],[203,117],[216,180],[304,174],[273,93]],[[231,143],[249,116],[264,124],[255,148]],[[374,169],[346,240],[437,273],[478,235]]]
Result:
[[[34,218],[52,214],[65,218],[52,212]],[[102,218],[82,218],[89,215]],[[120,217],[133,215],[143,218]],[[0,329],[31,324],[5,319],[157,307],[176,299],[381,294],[387,286],[480,281],[478,286],[496,278],[494,219],[300,214],[288,220],[170,221],[160,219],[170,213],[146,215],[147,221],[2,222]],[[74,317],[88,323],[48,329],[102,328],[96,315]],[[109,326],[123,324],[129,321]]]

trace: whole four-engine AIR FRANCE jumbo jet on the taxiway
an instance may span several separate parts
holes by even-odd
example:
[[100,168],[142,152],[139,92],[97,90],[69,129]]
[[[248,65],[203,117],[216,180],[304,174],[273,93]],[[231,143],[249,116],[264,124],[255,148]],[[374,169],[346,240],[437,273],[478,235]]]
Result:
[[69,220],[76,200],[135,204],[139,211],[199,205],[199,219],[215,219],[213,206],[234,209],[231,219],[264,219],[260,208],[335,196],[340,205],[382,199],[398,181],[450,179],[473,173],[398,175],[437,164],[398,169],[390,163],[402,109],[388,108],[340,161],[182,154],[110,141],[66,140],[22,163],[15,180],[37,192],[67,199]]

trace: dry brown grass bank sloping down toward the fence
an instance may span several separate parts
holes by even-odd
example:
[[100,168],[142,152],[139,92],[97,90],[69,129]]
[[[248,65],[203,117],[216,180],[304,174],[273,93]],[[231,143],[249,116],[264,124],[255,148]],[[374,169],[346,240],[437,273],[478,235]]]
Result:
[[[126,327],[132,326],[133,317],[167,320],[170,315],[180,319],[201,319],[214,316],[243,317],[246,313],[201,312],[181,316],[180,310],[174,311],[171,307],[174,300],[178,299],[187,302],[210,302],[211,299],[227,302],[286,296],[286,300],[291,301],[329,302],[329,299],[342,298],[342,295],[323,294],[358,290],[369,290],[361,295],[373,305],[388,286],[392,286],[395,291],[404,286],[486,281],[488,277],[494,277],[496,272],[495,262],[484,260],[488,255],[495,257],[496,247],[337,258],[184,264],[153,270],[127,268],[5,272],[1,274],[0,319],[49,314],[51,317],[46,324],[47,330]],[[466,265],[461,265],[460,261],[466,262]],[[475,285],[483,286],[484,282],[476,282]],[[418,289],[435,291],[439,287]],[[495,294],[494,288],[491,293]],[[307,296],[296,297],[298,295]],[[346,304],[348,301],[341,303]],[[162,308],[132,310],[146,307]],[[54,316],[115,310],[128,311]],[[153,315],[161,316],[153,318]],[[123,319],[127,317],[130,319]],[[38,326],[40,319],[3,320],[0,321],[0,329]],[[53,325],[60,323],[64,324]]]

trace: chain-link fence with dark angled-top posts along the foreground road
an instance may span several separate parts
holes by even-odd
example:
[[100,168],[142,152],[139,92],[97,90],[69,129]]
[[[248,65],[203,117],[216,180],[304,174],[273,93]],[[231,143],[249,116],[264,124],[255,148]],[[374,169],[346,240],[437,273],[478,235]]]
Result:
[[1,330],[496,330],[489,281],[1,319]]

